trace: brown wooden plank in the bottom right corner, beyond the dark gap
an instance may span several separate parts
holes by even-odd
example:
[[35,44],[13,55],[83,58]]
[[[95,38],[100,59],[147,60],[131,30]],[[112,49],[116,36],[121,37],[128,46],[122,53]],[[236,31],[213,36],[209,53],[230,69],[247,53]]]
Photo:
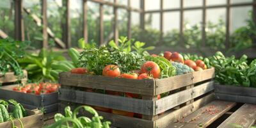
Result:
[[256,119],[256,105],[244,104],[237,109],[235,113],[222,122],[218,128],[232,128],[234,124],[241,125],[241,127],[251,127]]

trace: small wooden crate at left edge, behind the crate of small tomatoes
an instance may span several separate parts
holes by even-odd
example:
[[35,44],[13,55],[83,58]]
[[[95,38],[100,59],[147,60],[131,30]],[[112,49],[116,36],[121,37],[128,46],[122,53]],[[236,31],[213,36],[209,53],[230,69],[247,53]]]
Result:
[[[22,84],[26,84],[28,81],[28,72],[26,70],[23,70],[24,78],[21,79]],[[6,72],[4,76],[0,74],[0,84],[1,85],[10,85],[17,82],[17,76],[14,75],[14,72]]]

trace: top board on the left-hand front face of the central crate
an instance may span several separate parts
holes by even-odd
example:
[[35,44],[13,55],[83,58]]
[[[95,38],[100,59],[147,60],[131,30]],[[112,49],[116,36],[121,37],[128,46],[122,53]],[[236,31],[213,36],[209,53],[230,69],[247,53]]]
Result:
[[122,79],[104,76],[90,76],[60,72],[61,85],[97,88],[117,92],[130,92],[142,95],[154,95],[154,81],[152,79]]

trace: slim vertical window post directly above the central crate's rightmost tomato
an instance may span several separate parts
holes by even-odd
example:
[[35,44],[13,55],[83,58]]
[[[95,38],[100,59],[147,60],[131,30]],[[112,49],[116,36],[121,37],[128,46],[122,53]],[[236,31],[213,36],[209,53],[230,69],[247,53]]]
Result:
[[202,46],[205,46],[206,44],[206,33],[205,33],[205,27],[206,27],[206,0],[203,0],[203,15],[202,15]]

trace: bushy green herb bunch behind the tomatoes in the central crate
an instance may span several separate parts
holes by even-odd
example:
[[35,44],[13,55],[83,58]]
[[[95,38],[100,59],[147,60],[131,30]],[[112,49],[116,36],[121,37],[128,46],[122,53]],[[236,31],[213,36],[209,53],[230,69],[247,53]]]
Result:
[[79,57],[79,64],[95,75],[102,75],[107,65],[118,65],[122,72],[130,72],[139,69],[143,61],[143,57],[136,52],[119,51],[108,46],[84,49]]

